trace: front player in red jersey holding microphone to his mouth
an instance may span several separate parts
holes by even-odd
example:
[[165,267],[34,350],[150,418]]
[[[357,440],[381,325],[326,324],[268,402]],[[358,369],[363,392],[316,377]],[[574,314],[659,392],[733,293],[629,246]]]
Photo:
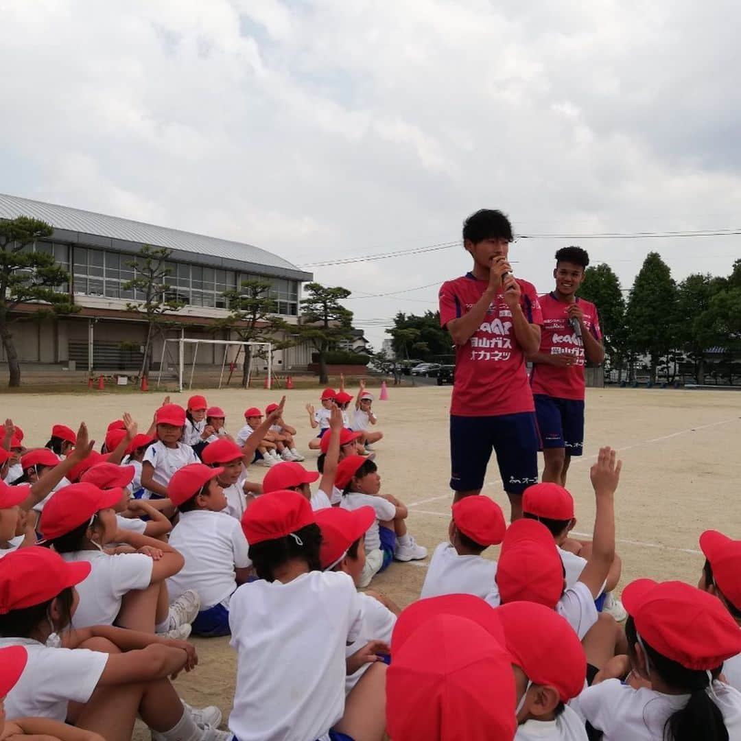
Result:
[[501,211],[476,211],[463,225],[473,269],[443,283],[440,324],[456,345],[451,402],[451,488],[457,502],[479,494],[492,448],[511,505],[538,480],[538,433],[525,356],[540,346],[534,285],[508,262],[512,225]]

